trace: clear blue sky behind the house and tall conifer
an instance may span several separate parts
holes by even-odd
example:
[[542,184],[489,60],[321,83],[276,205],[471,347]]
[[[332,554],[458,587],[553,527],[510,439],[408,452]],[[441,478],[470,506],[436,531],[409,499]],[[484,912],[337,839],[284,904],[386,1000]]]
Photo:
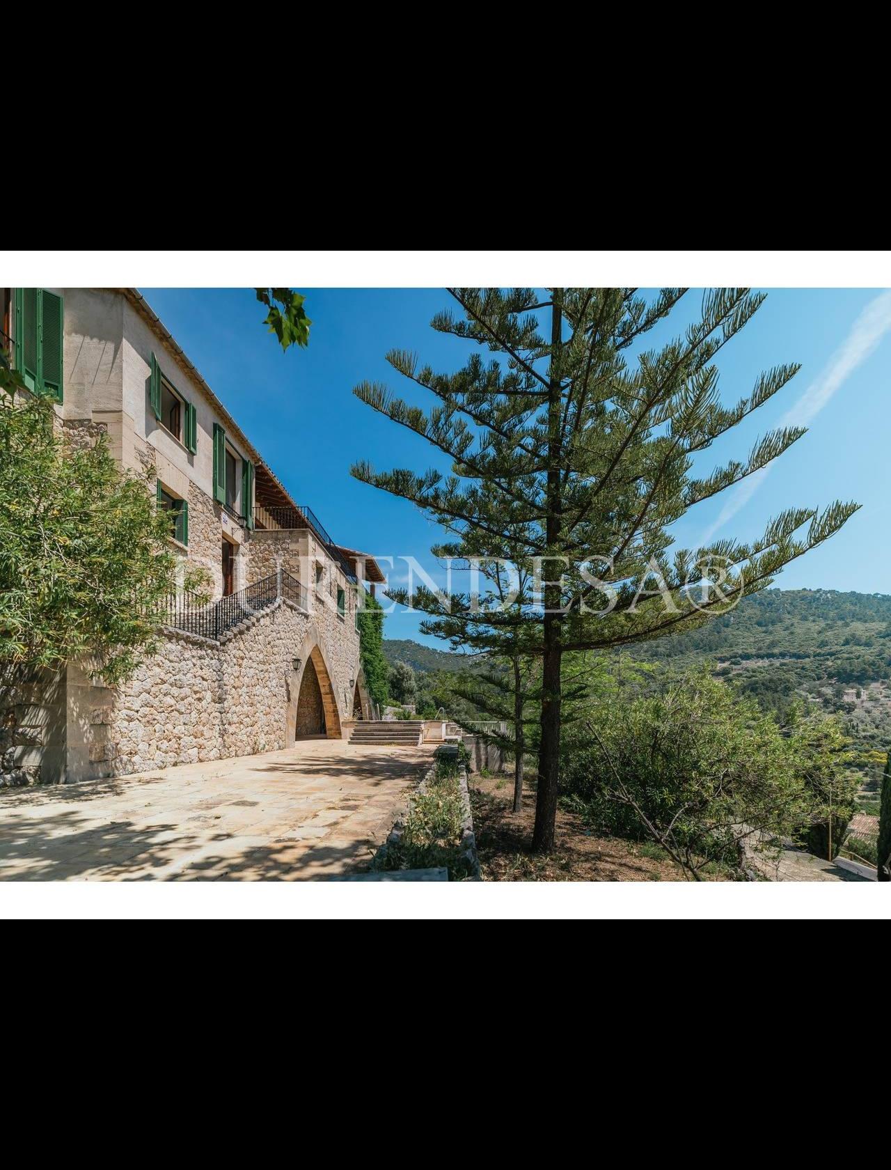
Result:
[[[429,328],[435,312],[454,305],[444,289],[301,288],[312,318],[310,345],[288,353],[267,333],[253,289],[140,291],[293,498],[309,504],[338,542],[380,556],[414,556],[435,571],[429,546],[438,530],[412,504],[353,480],[350,466],[368,459],[381,469],[448,470],[448,461],[360,402],[352,388],[365,379],[386,381],[409,401],[430,405],[431,395],[400,379],[384,355],[409,349],[442,371],[463,365],[469,343]],[[778,363],[800,362],[802,369],[714,445],[704,470],[744,457],[758,435],[799,417],[813,415],[809,432],[750,498],[738,487],[692,509],[676,526],[677,543],[697,544],[727,502],[734,515],[716,538],[754,537],[793,504],[856,500],[862,510],[776,585],[891,593],[891,297],[879,301],[883,294],[875,289],[767,291],[765,304],[721,352],[723,398],[730,402],[750,393],[759,372]],[[648,336],[648,347],[695,319],[700,295],[688,292],[670,321]],[[396,560],[393,578],[403,576]],[[417,621],[414,614],[393,614],[386,635],[419,638]]]

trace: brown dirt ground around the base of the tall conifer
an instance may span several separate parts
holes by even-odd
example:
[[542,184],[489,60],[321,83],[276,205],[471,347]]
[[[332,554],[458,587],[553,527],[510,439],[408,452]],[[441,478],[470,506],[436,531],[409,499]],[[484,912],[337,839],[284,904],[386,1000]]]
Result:
[[525,792],[514,817],[512,776],[472,773],[469,787],[483,881],[684,881],[671,861],[647,855],[658,854],[657,848],[598,837],[562,810],[557,812],[557,848],[533,856],[534,793]]

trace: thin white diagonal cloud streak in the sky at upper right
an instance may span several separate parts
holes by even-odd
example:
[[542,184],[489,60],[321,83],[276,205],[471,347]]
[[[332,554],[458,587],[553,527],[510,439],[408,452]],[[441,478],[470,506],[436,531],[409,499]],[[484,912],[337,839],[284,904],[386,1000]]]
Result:
[[[827,405],[833,394],[847,381],[858,365],[862,365],[873,352],[878,343],[891,329],[891,289],[879,292],[865,307],[851,325],[844,342],[833,355],[831,360],[813,381],[801,398],[789,407],[778,426],[807,426]],[[717,518],[699,539],[699,545],[707,544],[714,534],[724,528],[738,511],[746,507],[752,496],[767,479],[773,464],[754,472],[748,479],[732,489],[731,497],[718,512]]]

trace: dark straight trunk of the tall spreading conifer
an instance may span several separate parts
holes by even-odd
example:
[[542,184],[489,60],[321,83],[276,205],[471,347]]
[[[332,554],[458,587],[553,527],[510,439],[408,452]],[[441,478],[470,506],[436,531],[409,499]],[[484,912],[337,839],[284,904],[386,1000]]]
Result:
[[[562,388],[560,385],[560,342],[562,337],[562,289],[553,290],[551,309],[551,369],[547,400],[547,522],[548,555],[555,553],[560,539],[560,422]],[[546,579],[560,576],[555,563],[548,562]],[[541,741],[538,751],[538,793],[532,849],[550,853],[554,847],[557,790],[560,775],[560,660],[562,647],[562,596],[558,584],[545,586],[544,656],[541,661]]]

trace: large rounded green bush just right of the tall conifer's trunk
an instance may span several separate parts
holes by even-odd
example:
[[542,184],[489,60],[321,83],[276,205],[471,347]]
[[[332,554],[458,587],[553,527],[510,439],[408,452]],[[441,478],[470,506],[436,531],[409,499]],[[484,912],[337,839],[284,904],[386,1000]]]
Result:
[[566,744],[561,787],[600,831],[649,838],[691,876],[710,861],[741,873],[744,837],[794,837],[826,815],[842,748],[834,721],[785,735],[700,668],[605,688]]

